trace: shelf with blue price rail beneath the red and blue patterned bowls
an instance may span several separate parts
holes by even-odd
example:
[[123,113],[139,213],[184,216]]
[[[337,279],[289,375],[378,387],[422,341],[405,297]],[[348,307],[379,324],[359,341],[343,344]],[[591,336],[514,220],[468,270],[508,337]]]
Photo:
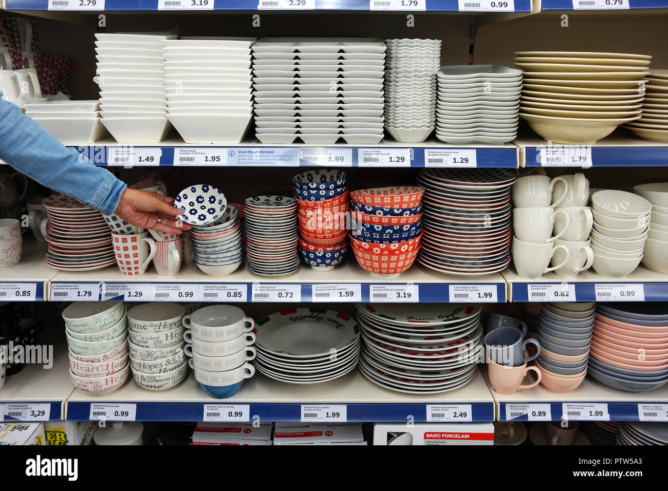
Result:
[[206,275],[196,265],[184,266],[178,275],[173,277],[160,276],[155,271],[148,271],[138,277],[127,277],[122,275],[117,267],[76,273],[61,271],[49,284],[49,299],[290,303],[448,302],[451,291],[453,301],[454,293],[469,295],[466,298],[456,297],[458,301],[506,301],[506,282],[500,274],[476,279],[448,277],[420,265],[413,265],[397,278],[374,279],[352,260],[327,273],[314,271],[302,264],[297,273],[276,278],[255,275],[244,265],[225,277]]

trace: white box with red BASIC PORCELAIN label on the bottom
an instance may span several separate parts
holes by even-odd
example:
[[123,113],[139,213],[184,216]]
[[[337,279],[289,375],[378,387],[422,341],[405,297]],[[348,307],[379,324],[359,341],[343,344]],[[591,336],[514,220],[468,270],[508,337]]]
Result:
[[494,445],[492,423],[376,423],[374,445]]

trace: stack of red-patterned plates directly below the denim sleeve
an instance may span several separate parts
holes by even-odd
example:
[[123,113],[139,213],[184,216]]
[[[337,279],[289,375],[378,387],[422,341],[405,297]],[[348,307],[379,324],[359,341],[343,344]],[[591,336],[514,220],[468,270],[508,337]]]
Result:
[[102,213],[59,192],[44,198],[42,204],[49,215],[47,265],[63,271],[90,271],[116,263]]

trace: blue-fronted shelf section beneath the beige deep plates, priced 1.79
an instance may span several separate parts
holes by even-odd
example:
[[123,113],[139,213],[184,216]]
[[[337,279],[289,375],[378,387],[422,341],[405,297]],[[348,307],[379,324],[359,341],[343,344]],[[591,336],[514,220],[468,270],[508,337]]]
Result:
[[[538,136],[520,136],[514,143],[520,148],[520,167],[668,166],[668,143],[642,140],[626,130],[617,130],[593,145],[550,145]],[[548,158],[554,162],[542,163],[541,148],[552,152]]]

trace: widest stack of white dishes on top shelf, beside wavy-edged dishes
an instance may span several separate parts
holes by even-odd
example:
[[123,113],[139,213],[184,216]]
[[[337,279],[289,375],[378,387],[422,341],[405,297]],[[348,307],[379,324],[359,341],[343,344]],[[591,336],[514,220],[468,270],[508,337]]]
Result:
[[378,143],[384,63],[380,39],[260,39],[253,45],[258,140]]

